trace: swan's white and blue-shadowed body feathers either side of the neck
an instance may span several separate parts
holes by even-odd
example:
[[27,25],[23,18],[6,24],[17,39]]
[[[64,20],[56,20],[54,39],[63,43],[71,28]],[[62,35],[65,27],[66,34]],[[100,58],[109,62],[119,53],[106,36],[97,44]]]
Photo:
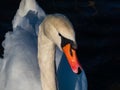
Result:
[[[0,90],[41,90],[37,60],[39,24],[46,17],[34,0],[22,0],[13,19],[13,31],[3,42],[4,58],[0,59]],[[56,48],[59,90],[87,90],[84,71],[75,75],[62,52]],[[62,59],[60,61],[60,59]]]

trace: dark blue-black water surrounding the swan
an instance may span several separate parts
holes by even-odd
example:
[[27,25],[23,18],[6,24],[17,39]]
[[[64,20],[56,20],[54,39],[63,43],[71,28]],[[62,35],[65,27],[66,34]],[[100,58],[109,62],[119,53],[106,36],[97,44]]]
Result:
[[[89,90],[120,90],[120,1],[37,0],[46,13],[63,13],[76,31],[77,54],[87,74]],[[6,32],[20,0],[0,2],[0,56]],[[49,3],[48,3],[49,2]]]

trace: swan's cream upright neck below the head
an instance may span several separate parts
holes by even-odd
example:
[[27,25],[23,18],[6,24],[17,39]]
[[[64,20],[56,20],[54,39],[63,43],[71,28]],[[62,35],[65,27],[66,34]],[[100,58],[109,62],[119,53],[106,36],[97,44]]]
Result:
[[40,30],[38,35],[38,63],[42,90],[56,90],[54,54],[55,45]]

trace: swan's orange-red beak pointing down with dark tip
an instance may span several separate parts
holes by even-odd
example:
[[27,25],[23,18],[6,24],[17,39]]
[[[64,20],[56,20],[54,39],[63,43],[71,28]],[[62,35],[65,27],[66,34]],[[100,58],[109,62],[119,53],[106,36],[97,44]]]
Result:
[[68,60],[68,63],[72,71],[76,74],[79,74],[82,70],[80,63],[78,62],[75,49],[71,48],[70,44],[66,44],[63,48],[63,52]]

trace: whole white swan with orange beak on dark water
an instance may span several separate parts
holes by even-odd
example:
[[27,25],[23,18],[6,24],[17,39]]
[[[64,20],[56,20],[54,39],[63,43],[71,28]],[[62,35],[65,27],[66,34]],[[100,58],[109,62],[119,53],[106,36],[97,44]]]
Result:
[[22,0],[3,46],[0,90],[87,90],[84,70],[75,55],[73,27],[65,16],[46,16],[34,0]]

